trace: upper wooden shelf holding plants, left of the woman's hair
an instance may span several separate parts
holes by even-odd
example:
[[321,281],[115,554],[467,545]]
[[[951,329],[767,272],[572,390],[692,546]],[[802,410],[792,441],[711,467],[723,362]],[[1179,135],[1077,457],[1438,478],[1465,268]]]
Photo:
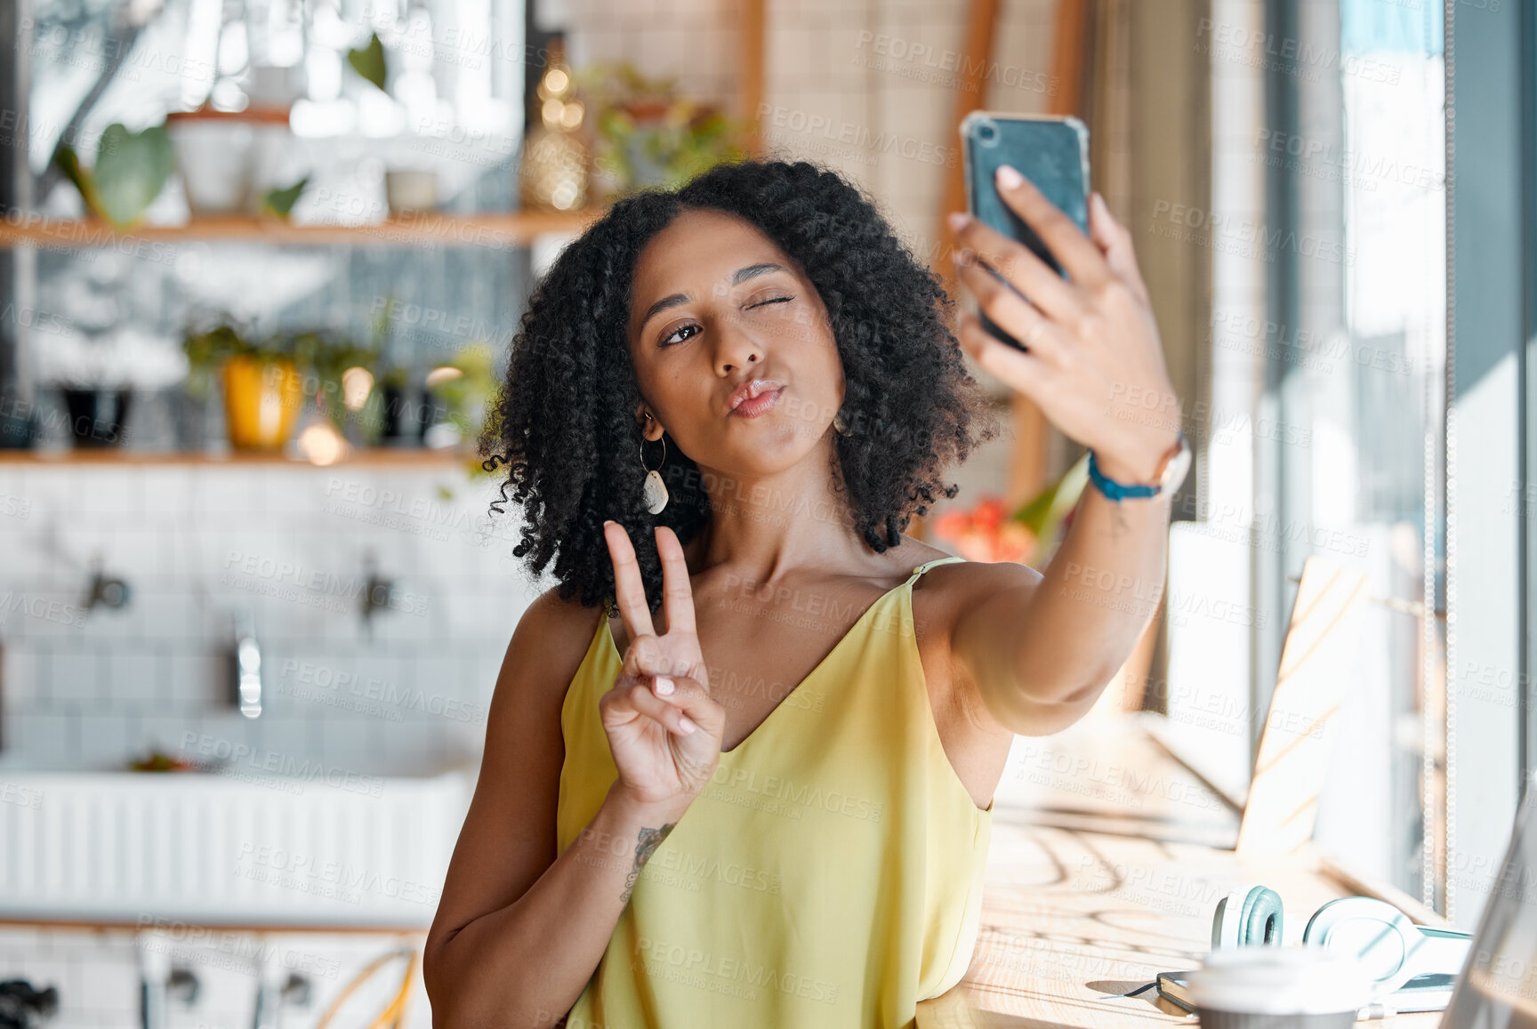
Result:
[[11,210],[0,217],[0,247],[32,244],[55,249],[138,247],[143,244],[224,241],[286,243],[297,246],[470,246],[489,250],[524,247],[552,232],[581,232],[603,215],[584,210],[513,210],[486,215],[424,212],[395,215],[364,226],[294,224],[278,218],[220,215],[192,218],[180,226],[138,226],[117,230],[105,221],[46,218]]

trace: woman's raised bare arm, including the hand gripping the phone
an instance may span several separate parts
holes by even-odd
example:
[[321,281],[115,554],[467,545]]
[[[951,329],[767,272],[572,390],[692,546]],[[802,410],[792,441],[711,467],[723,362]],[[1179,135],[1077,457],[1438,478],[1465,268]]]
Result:
[[[1180,405],[1131,235],[1096,194],[1085,237],[1010,170],[1001,169],[999,194],[1068,278],[959,217],[961,281],[1028,352],[994,339],[971,315],[962,316],[961,346],[1093,448],[1105,476],[1150,485],[1179,441]],[[1170,493],[1117,502],[1087,487],[1042,576],[1025,570],[1017,588],[979,596],[958,616],[953,651],[999,723],[1022,736],[1071,725],[1130,657],[1164,591]]]

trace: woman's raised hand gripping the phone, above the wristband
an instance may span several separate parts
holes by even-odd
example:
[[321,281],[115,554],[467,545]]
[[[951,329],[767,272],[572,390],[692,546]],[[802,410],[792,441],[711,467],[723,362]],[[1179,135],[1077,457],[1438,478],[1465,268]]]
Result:
[[1179,439],[1180,407],[1131,233],[1099,194],[1088,204],[1085,237],[1014,169],[999,169],[998,192],[1067,278],[976,218],[950,215],[959,281],[988,319],[1028,350],[999,341],[970,313],[961,315],[961,346],[1034,401],[1057,428],[1091,447],[1107,476],[1151,482]]

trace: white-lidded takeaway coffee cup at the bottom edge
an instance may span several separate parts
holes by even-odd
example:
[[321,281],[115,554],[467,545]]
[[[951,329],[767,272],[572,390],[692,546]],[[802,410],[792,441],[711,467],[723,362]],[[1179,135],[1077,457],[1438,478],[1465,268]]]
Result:
[[1348,1029],[1371,980],[1319,946],[1240,946],[1208,954],[1190,994],[1202,1029]]

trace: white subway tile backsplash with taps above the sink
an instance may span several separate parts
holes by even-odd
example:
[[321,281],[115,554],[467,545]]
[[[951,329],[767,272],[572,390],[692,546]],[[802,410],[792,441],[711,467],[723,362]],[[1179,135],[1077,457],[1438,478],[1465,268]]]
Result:
[[[324,760],[429,774],[473,760],[507,640],[543,587],[516,508],[461,465],[0,464],[0,768]],[[366,622],[369,558],[389,591]],[[101,573],[121,608],[88,608]],[[237,627],[261,647],[243,717]]]

